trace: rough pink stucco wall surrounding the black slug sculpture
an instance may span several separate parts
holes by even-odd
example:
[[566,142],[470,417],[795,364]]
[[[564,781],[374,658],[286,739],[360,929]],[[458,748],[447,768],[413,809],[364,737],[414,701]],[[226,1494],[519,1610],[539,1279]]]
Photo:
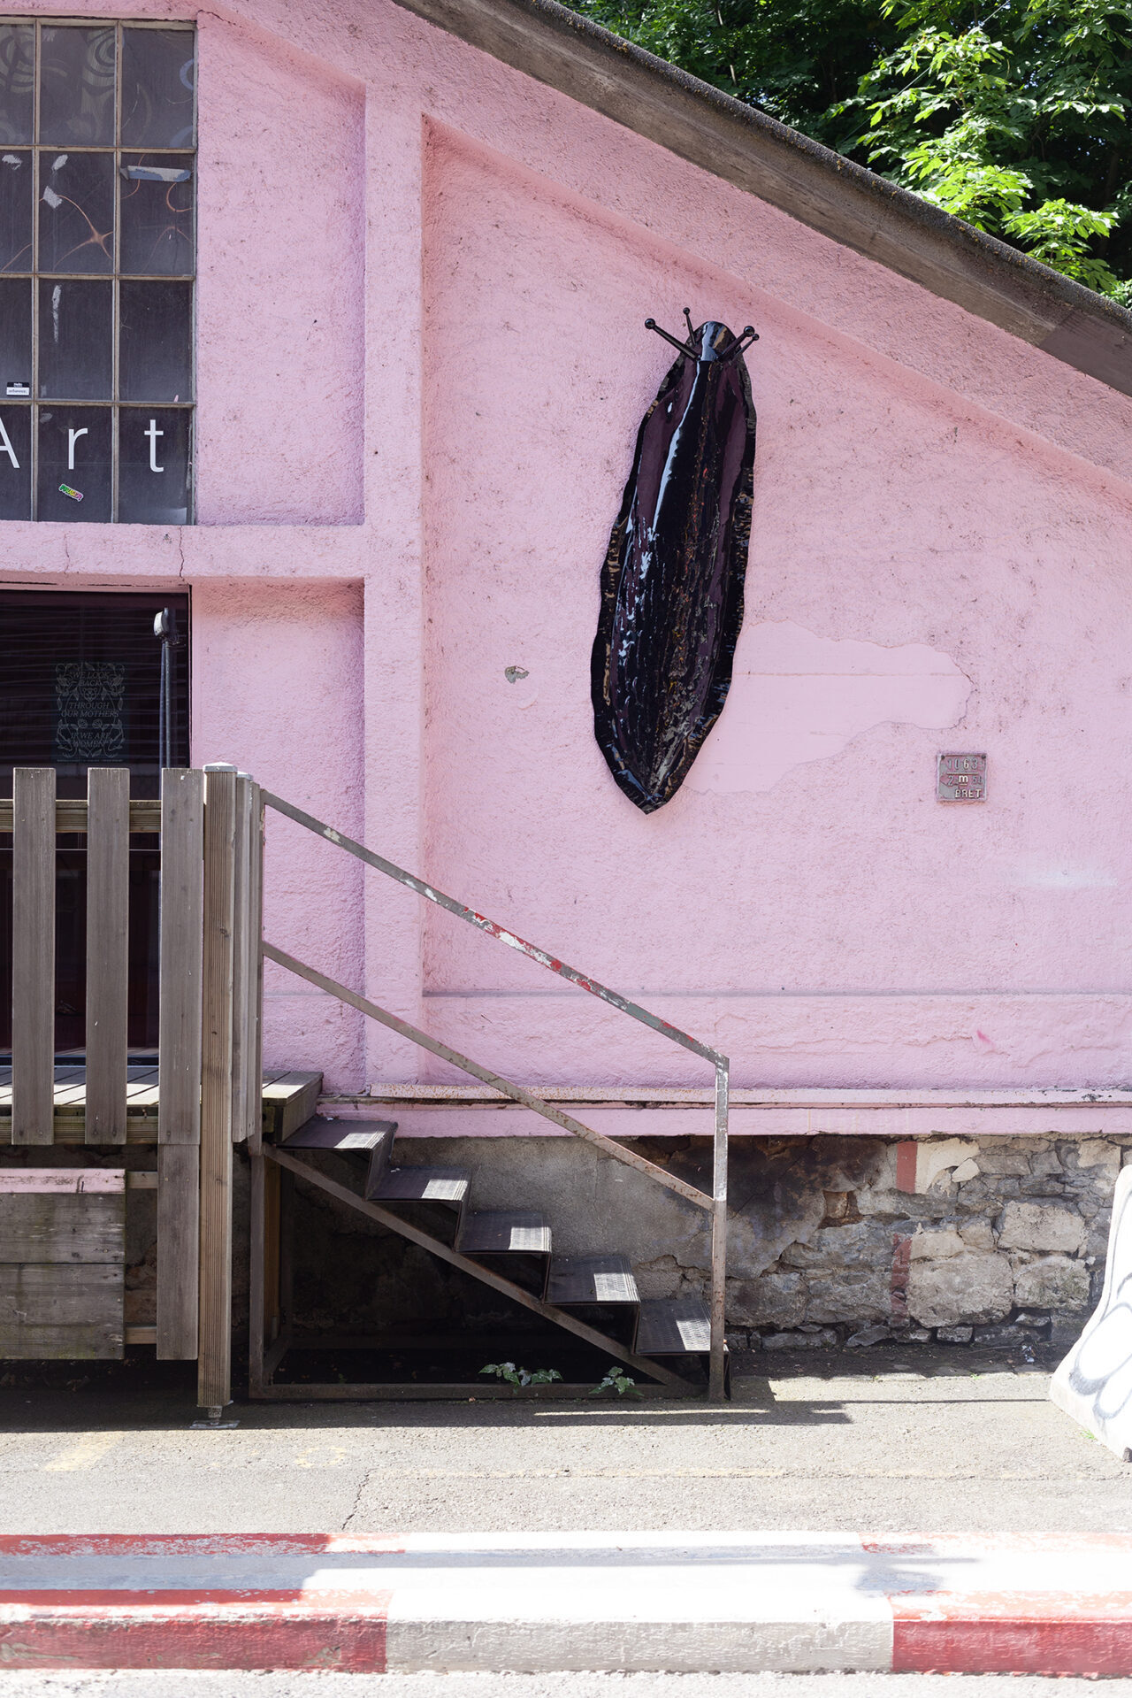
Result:
[[[387,0],[210,8],[199,58],[200,523],[8,525],[3,579],[187,582],[195,761],[740,1085],[1125,1080],[1132,402]],[[760,331],[755,525],[731,698],[647,818],[587,666],[642,321],[686,302]],[[984,807],[937,805],[940,749],[988,752]],[[516,1077],[703,1082],[280,822],[268,934]],[[268,1060],[436,1077],[268,988]]]

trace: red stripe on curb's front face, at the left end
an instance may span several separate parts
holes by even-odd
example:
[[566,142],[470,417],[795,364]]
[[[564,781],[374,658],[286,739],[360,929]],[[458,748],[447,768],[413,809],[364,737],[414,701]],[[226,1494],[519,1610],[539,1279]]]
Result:
[[0,1622],[7,1669],[336,1669],[384,1674],[389,1593],[365,1611],[324,1605],[42,1611]]

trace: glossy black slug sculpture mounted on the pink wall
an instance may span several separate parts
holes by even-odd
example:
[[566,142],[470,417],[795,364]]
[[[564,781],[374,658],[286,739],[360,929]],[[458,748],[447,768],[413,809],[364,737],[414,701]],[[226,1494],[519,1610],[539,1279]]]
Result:
[[743,350],[708,321],[679,348],[636,435],[601,572],[594,734],[643,813],[677,793],[720,717],[743,623],[755,409]]

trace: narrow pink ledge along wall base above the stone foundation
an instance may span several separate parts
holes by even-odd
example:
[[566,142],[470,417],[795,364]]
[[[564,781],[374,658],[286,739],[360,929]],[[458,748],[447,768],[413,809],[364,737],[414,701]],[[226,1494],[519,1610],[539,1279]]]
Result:
[[[526,1083],[526,1082],[524,1082]],[[711,1136],[709,1090],[526,1083],[545,1102],[586,1109],[609,1138]],[[377,1083],[324,1097],[319,1112],[395,1114],[401,1138],[569,1138],[485,1085]],[[733,1090],[731,1136],[754,1138],[1112,1138],[1132,1136],[1132,1090]]]

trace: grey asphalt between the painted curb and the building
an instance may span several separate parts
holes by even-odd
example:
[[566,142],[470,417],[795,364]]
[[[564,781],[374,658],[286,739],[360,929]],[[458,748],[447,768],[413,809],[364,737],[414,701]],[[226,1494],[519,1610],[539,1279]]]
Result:
[[238,1404],[221,1431],[188,1386],[0,1387],[0,1532],[1132,1532],[1132,1465],[1044,1370],[966,1352],[776,1363],[723,1409]]

